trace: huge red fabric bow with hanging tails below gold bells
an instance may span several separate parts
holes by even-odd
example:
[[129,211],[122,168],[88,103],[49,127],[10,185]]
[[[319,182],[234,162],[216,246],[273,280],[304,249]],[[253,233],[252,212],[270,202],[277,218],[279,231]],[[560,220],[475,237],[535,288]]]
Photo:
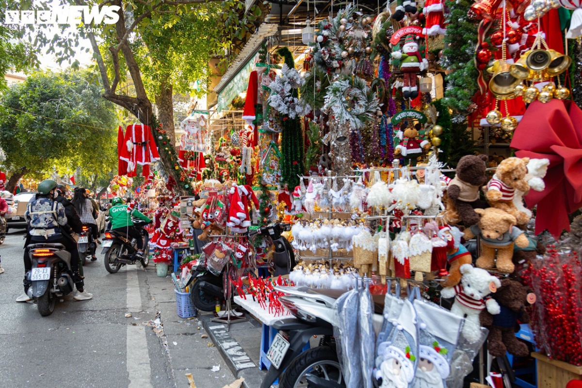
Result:
[[535,233],[555,237],[570,230],[568,214],[582,207],[582,110],[572,101],[534,101],[513,134],[511,147],[520,158],[548,158],[545,190],[526,195],[538,205]]

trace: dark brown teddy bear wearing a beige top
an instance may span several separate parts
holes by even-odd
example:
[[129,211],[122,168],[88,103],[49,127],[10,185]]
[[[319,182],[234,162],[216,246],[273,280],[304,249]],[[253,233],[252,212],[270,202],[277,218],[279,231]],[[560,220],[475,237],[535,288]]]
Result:
[[485,175],[486,155],[465,155],[457,163],[456,175],[446,190],[449,198],[447,212],[459,213],[466,226],[479,222],[475,208],[485,208],[487,204],[479,199],[479,188],[487,181]]

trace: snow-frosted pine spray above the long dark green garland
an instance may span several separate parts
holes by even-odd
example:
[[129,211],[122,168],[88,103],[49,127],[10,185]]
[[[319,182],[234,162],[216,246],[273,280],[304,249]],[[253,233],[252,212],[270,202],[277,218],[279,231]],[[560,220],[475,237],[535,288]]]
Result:
[[[281,68],[281,77],[276,77],[271,82],[271,94],[268,102],[271,108],[275,109],[282,115],[288,115],[290,119],[307,115],[311,109],[295,97],[299,87],[305,83],[299,72],[290,69],[289,66],[283,65]],[[295,91],[295,92],[293,92]]]

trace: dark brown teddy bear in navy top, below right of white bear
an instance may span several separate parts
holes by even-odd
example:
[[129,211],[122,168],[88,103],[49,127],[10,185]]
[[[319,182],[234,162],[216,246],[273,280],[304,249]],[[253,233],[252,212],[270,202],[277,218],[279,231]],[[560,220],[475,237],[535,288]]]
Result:
[[517,340],[515,333],[519,330],[518,319],[521,323],[530,322],[526,304],[533,301],[531,296],[528,297],[532,292],[520,282],[503,279],[501,287],[491,294],[501,307],[501,312],[492,315],[484,309],[479,318],[481,325],[489,329],[487,350],[492,356],[503,357],[506,351],[517,357],[527,357],[530,354],[527,345]]

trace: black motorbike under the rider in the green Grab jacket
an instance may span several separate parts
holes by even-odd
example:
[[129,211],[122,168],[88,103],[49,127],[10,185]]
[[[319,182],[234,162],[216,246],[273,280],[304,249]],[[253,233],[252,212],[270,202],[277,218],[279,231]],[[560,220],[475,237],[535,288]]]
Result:
[[130,236],[126,233],[108,229],[105,231],[105,240],[101,244],[101,247],[103,247],[101,254],[105,254],[105,269],[109,273],[116,273],[124,265],[135,265],[139,262],[145,268],[150,262],[147,252],[150,235],[144,229],[144,226],[151,221],[148,222],[141,219],[133,219],[132,221],[134,229],[139,230],[143,238],[144,256],[137,255],[136,239],[129,240]]

